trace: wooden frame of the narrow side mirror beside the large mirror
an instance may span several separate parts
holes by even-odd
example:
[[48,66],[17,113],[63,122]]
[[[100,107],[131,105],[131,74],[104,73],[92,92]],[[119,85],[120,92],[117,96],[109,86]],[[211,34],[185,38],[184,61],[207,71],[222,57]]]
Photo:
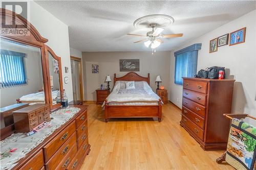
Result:
[[[47,79],[50,80],[50,69],[49,69],[49,55],[48,52],[52,55],[52,57],[58,61],[59,66],[59,91],[60,98],[62,98],[63,84],[62,84],[62,68],[61,68],[61,58],[58,57],[53,50],[45,45],[45,55],[46,55],[46,69],[47,69]],[[48,81],[48,89],[49,89],[49,100],[51,109],[56,109],[61,106],[61,103],[57,103],[55,105],[52,104],[52,93],[51,93],[51,81]]]

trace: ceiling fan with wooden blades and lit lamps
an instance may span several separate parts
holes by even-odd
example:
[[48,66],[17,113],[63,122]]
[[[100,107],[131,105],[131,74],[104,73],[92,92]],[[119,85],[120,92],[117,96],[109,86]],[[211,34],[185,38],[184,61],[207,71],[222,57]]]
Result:
[[151,23],[149,26],[152,28],[152,31],[147,32],[146,35],[130,34],[130,33],[127,35],[137,36],[137,37],[145,37],[144,39],[136,41],[134,43],[146,41],[146,42],[144,42],[144,45],[146,47],[151,47],[152,49],[155,49],[161,43],[163,43],[163,40],[161,40],[160,38],[174,38],[174,37],[182,37],[183,36],[183,34],[165,34],[165,35],[161,34],[161,32],[164,29],[157,27],[157,23]]

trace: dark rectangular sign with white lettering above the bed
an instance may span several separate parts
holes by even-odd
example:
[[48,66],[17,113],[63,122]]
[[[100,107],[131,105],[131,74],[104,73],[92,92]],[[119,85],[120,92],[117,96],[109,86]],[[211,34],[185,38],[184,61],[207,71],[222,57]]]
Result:
[[120,59],[120,71],[140,71],[139,59]]

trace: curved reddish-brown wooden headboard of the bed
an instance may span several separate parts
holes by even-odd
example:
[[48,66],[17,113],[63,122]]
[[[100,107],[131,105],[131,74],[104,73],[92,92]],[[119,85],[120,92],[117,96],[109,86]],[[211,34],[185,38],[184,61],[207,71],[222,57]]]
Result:
[[138,75],[136,72],[128,72],[126,75],[119,78],[117,78],[116,74],[114,74],[114,84],[116,83],[116,81],[145,81],[148,83],[148,85],[150,85],[150,74],[148,73],[147,77],[142,77]]

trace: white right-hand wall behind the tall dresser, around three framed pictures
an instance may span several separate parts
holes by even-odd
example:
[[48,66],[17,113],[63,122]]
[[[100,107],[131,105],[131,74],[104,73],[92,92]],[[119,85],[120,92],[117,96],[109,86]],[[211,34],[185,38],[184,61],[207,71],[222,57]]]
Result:
[[[256,102],[254,101],[256,92],[255,20],[256,10],[181,45],[179,48],[172,51],[170,55],[169,100],[179,107],[182,106],[182,86],[174,84],[174,52],[194,43],[202,43],[202,48],[198,53],[197,70],[205,69],[209,66],[224,66],[228,68],[230,70],[229,78],[236,79],[233,91],[232,113],[247,113],[256,116]],[[220,46],[218,52],[209,53],[209,40],[243,27],[246,27],[245,43],[232,46]],[[251,121],[249,120],[249,122]]]

